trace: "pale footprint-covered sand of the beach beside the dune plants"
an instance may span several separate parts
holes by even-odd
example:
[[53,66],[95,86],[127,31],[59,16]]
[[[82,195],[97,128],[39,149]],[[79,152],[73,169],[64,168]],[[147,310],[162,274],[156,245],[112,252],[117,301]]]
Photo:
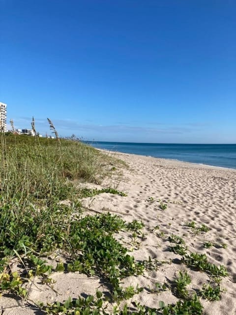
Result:
[[[114,177],[101,186],[124,191],[122,197],[103,193],[85,198],[83,206],[89,214],[110,212],[125,221],[143,221],[142,235],[130,236],[118,233],[116,238],[129,248],[136,260],[150,257],[162,262],[157,270],[146,270],[143,275],[128,277],[122,286],[144,287],[143,292],[134,295],[127,302],[136,301],[148,307],[158,308],[159,301],[176,303],[178,298],[172,290],[158,294],[153,291],[156,283],[171,285],[178,272],[187,272],[191,283],[189,293],[198,292],[210,280],[206,272],[196,271],[181,263],[181,256],[170,251],[169,237],[181,237],[189,252],[205,253],[210,263],[224,265],[229,275],[222,278],[221,300],[207,301],[200,298],[206,315],[236,314],[236,170],[178,162],[122,153],[108,153],[126,162],[122,176],[119,170]],[[187,226],[194,221],[195,227]],[[207,232],[198,228],[206,225]],[[204,247],[210,243],[209,248]],[[52,262],[51,262],[52,263]],[[106,286],[97,277],[79,273],[58,273],[51,275],[53,287],[37,282],[35,278],[29,287],[29,297],[24,303],[2,296],[0,309],[4,315],[32,315],[41,313],[34,303],[65,301],[69,296],[105,292]]]

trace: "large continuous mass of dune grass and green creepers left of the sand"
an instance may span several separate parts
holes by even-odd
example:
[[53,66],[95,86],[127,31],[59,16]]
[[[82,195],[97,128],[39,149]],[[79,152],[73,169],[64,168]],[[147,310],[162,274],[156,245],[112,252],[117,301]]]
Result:
[[[1,134],[0,148],[1,290],[25,295],[22,284],[32,276],[50,282],[55,269],[40,256],[58,249],[66,252],[67,263],[58,264],[57,271],[100,274],[113,284],[113,293],[120,291],[119,279],[143,272],[144,263],[136,262],[113,237],[122,228],[139,233],[142,222],[126,224],[109,213],[81,217],[81,196],[126,196],[112,188],[80,191],[73,183],[100,182],[108,166],[117,163],[114,158],[78,141],[14,134]],[[11,272],[13,259],[19,260],[28,280]]]

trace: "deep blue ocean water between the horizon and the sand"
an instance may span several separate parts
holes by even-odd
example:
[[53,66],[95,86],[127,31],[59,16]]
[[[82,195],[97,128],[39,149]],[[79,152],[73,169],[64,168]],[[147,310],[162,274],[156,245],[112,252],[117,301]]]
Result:
[[236,144],[166,144],[129,142],[92,142],[89,145],[109,151],[138,154],[154,158],[236,169]]

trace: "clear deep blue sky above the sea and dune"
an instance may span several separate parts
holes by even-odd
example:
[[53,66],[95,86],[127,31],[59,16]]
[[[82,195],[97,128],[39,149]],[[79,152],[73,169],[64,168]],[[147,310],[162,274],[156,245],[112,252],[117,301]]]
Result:
[[0,0],[0,101],[85,140],[236,143],[235,0]]

